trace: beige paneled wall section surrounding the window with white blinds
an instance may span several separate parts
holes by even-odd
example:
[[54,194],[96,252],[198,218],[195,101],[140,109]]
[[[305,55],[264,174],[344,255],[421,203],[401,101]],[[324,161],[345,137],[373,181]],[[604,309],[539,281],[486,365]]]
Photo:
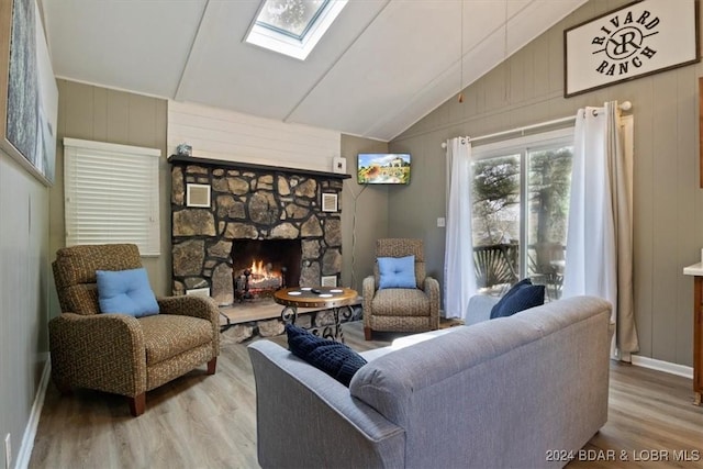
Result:
[[[157,295],[170,293],[170,166],[166,161],[167,101],[124,91],[58,80],[56,183],[51,191],[51,258],[65,246],[64,137],[135,145],[161,150],[159,169],[161,255],[143,258]],[[52,316],[59,313],[52,294]]]

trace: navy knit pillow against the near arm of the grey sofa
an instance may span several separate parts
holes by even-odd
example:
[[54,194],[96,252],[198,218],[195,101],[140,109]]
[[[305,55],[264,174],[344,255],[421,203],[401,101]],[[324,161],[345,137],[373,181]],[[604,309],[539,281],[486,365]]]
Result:
[[298,358],[349,387],[352,377],[367,361],[348,346],[317,337],[304,328],[286,324],[288,349]]

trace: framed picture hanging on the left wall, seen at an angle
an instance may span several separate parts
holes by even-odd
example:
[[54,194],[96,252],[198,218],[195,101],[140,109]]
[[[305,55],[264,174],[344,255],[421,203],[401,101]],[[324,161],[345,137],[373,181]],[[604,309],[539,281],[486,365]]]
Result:
[[0,147],[51,186],[58,88],[36,1],[1,1],[0,32]]

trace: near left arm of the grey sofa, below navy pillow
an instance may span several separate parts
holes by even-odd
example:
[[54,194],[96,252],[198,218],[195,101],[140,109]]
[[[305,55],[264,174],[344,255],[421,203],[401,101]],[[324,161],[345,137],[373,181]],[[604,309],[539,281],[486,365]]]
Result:
[[270,340],[250,344],[248,353],[261,467],[403,466],[404,429],[352,398],[344,384]]

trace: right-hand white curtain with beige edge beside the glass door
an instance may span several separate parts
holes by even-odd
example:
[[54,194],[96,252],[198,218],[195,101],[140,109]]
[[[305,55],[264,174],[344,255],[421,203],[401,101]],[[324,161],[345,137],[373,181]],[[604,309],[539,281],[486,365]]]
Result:
[[[628,121],[632,133],[632,119]],[[631,148],[616,101],[577,113],[562,295],[613,304],[614,358],[638,351],[633,306]]]

